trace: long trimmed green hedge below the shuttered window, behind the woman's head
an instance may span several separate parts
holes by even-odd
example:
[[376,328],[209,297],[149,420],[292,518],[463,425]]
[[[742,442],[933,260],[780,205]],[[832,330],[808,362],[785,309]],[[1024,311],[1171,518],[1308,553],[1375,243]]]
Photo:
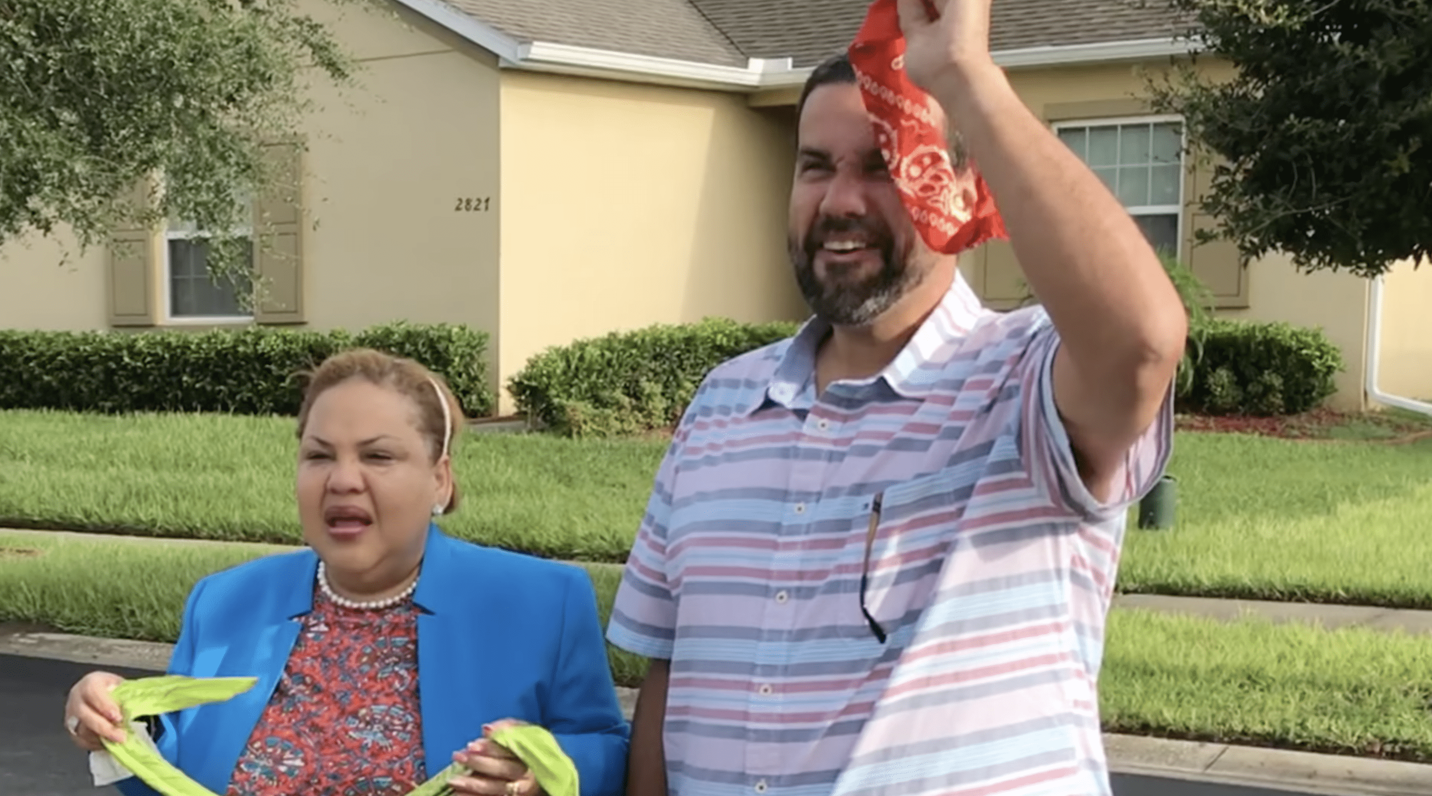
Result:
[[470,417],[493,411],[488,335],[463,325],[395,322],[358,334],[241,331],[0,331],[0,409],[295,415],[305,369],[348,348],[377,348],[442,374]]

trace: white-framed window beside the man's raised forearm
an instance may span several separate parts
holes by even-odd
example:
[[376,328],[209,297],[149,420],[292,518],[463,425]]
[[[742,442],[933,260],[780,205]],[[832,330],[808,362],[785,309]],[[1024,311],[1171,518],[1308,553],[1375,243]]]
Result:
[[1177,119],[1074,122],[1055,132],[1134,216],[1156,249],[1183,241],[1183,125]]

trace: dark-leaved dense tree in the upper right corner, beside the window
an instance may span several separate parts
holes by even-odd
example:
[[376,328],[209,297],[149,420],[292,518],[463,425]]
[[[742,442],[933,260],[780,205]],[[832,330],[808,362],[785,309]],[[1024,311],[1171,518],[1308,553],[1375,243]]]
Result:
[[1432,246],[1432,0],[1171,0],[1236,73],[1150,82],[1214,157],[1203,210],[1249,258],[1383,273]]

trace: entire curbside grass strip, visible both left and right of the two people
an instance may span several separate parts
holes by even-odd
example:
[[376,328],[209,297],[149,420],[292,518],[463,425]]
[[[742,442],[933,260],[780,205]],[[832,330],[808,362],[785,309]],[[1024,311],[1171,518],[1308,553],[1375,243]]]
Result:
[[[0,620],[172,641],[202,576],[276,548],[0,533]],[[620,570],[587,566],[610,613]],[[644,663],[611,651],[619,684]],[[1113,732],[1432,762],[1432,639],[1116,610],[1100,680]]]

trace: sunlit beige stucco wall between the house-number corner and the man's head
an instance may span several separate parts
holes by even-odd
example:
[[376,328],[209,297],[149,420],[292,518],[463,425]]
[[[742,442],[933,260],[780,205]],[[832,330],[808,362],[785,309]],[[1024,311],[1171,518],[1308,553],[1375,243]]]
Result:
[[501,119],[504,384],[574,338],[805,315],[785,256],[789,109],[504,72]]

